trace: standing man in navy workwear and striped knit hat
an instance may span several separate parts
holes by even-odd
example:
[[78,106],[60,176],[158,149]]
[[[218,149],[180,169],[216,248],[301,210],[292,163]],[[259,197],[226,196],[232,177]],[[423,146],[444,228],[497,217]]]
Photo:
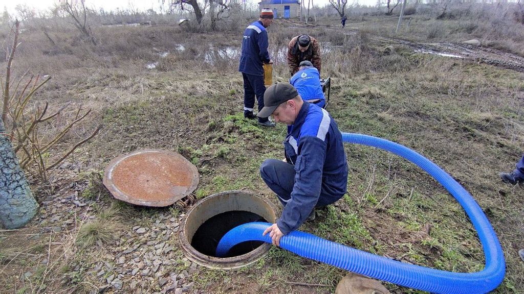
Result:
[[[250,24],[244,31],[242,41],[242,54],[238,71],[242,72],[244,78],[244,117],[254,119],[255,95],[258,101],[258,111],[264,107],[264,63],[272,63],[269,58],[268,38],[266,28],[273,21],[273,11],[264,7],[260,13],[260,18]],[[267,117],[259,117],[258,123],[265,127],[275,127],[275,123]]]

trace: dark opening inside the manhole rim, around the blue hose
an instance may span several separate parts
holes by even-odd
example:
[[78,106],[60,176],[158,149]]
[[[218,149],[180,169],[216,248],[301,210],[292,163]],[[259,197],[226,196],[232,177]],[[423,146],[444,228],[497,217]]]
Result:
[[[209,220],[206,220],[196,230],[191,241],[191,246],[202,254],[215,256],[216,246],[219,244],[222,236],[238,225],[254,221],[267,222],[263,217],[249,211],[234,210],[217,214]],[[255,250],[263,243],[264,242],[261,241],[242,242],[233,246],[224,257],[246,254]]]

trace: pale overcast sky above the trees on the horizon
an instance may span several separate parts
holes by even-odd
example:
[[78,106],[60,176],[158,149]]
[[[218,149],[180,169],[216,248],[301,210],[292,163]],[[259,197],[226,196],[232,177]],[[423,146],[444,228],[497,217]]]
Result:
[[[168,1],[168,0],[166,0]],[[248,2],[258,3],[259,0],[247,0]],[[307,1],[307,0],[303,0]],[[7,7],[9,13],[14,12],[14,8],[17,4],[26,4],[29,7],[35,7],[40,10],[45,10],[54,3],[58,3],[59,0],[0,0],[0,9],[4,10]],[[348,5],[351,3],[359,3],[362,5],[375,5],[376,0],[348,0]],[[305,2],[307,5],[307,2]],[[314,0],[315,6],[324,6],[328,4],[328,0]],[[155,9],[159,10],[158,0],[85,0],[85,4],[91,8],[103,7],[104,10],[115,10],[116,8],[129,8],[134,7],[138,10]]]

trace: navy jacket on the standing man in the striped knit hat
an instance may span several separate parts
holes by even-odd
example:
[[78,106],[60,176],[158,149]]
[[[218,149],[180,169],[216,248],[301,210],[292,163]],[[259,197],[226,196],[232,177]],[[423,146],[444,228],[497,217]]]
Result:
[[263,76],[263,62],[268,63],[270,60],[269,52],[267,51],[268,45],[267,31],[262,22],[257,20],[250,24],[244,31],[238,71],[245,74]]

